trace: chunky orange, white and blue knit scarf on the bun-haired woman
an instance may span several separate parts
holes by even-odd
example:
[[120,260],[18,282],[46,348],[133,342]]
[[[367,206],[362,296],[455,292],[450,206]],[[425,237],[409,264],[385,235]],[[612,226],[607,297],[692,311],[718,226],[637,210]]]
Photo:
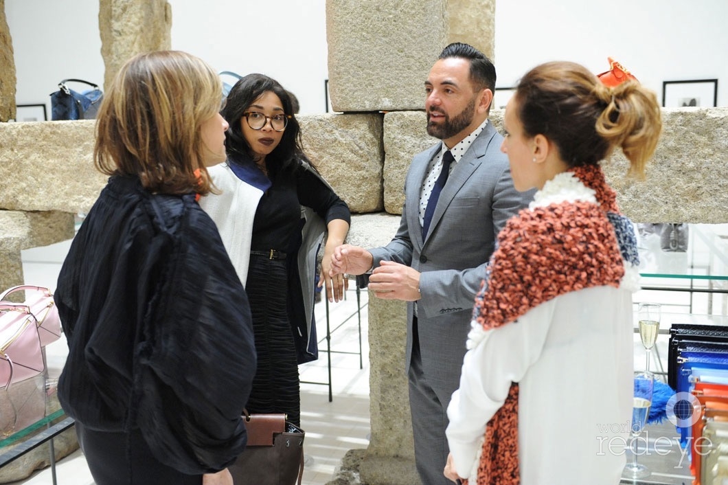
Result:
[[[632,225],[619,214],[616,194],[598,166],[548,181],[530,207],[507,222],[498,244],[489,279],[475,298],[473,319],[484,331],[571,291],[619,287],[625,267],[638,266]],[[472,334],[470,348],[478,344]],[[511,385],[484,438],[478,485],[518,484],[518,384]]]

